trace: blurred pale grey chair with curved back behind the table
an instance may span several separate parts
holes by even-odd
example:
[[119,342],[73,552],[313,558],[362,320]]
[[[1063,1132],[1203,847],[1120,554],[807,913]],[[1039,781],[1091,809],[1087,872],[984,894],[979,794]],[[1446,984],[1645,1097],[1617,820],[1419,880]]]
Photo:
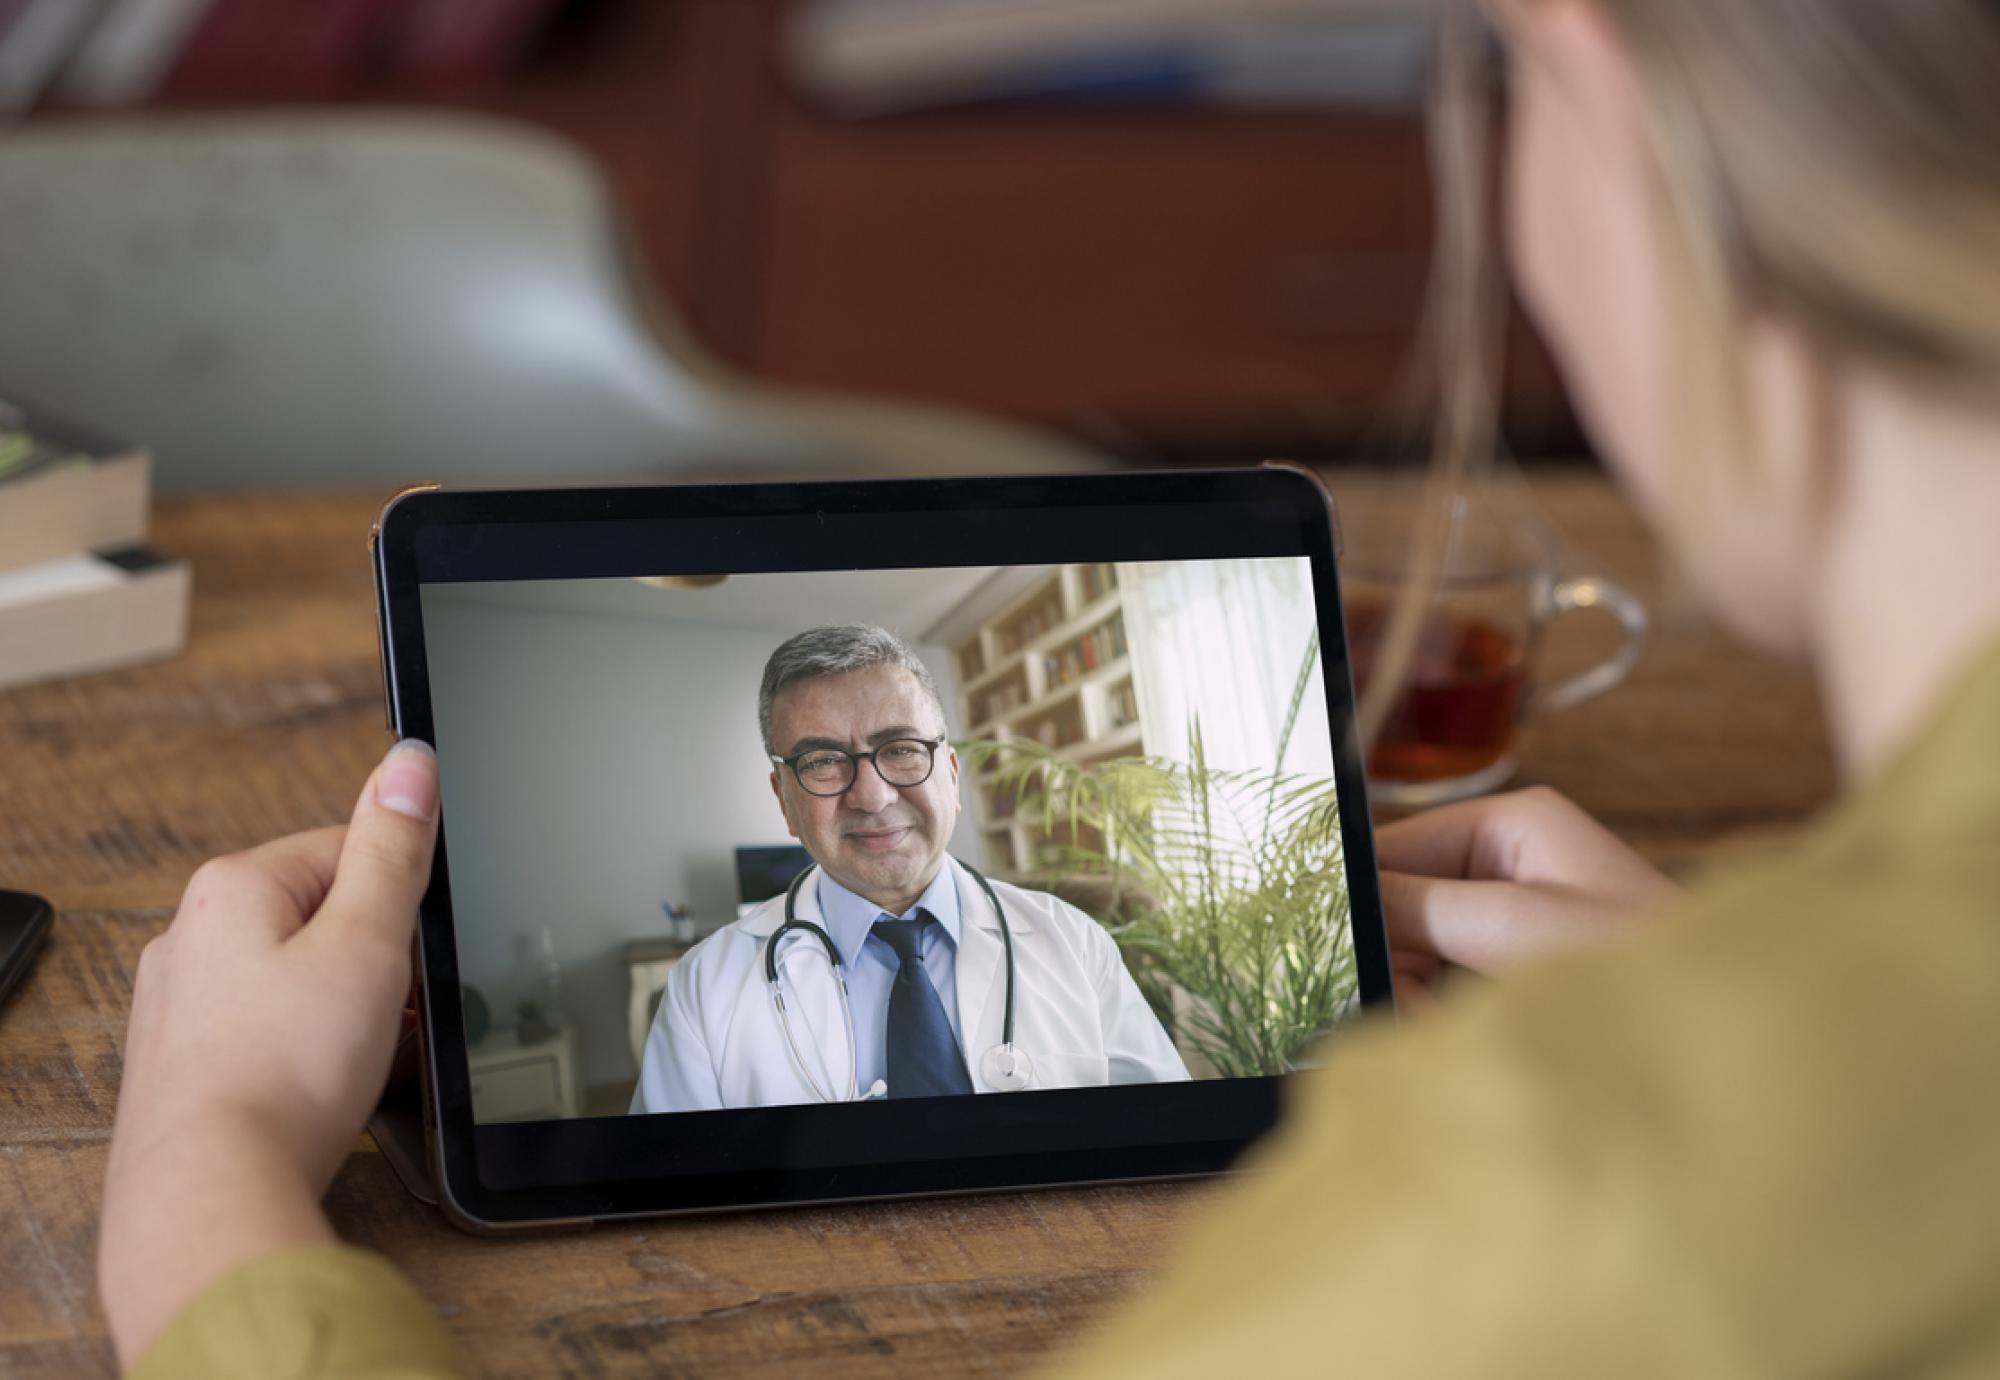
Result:
[[768,388],[658,310],[594,166],[442,114],[0,136],[0,394],[162,490],[1052,472],[966,414]]

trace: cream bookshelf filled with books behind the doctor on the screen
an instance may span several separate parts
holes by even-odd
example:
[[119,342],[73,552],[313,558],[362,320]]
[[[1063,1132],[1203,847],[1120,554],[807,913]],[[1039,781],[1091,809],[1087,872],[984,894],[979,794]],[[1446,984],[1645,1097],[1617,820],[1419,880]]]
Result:
[[[952,656],[970,738],[1028,740],[1076,762],[1142,750],[1124,590],[1110,562],[1058,566],[962,638]],[[1000,876],[1044,870],[1070,840],[1016,812],[990,774],[970,782],[986,864]]]

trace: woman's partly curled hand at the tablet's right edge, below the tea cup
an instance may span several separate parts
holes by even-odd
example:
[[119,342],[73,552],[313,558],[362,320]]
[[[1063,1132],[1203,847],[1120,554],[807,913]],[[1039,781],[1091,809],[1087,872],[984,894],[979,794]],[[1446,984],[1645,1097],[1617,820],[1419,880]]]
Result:
[[1516,790],[1376,830],[1398,998],[1430,996],[1446,966],[1496,974],[1604,944],[1678,894],[1568,798]]

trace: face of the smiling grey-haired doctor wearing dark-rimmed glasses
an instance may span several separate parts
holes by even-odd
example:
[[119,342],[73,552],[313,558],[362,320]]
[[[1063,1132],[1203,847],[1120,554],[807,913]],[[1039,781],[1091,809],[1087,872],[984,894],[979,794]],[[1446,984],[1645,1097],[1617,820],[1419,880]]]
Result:
[[[770,706],[770,736],[780,756],[806,748],[872,752],[894,738],[944,736],[944,716],[900,666],[868,666],[842,676],[800,680]],[[770,778],[784,822],[826,874],[890,914],[916,904],[938,876],[944,846],[958,824],[958,754],[940,746],[930,780],[890,786],[874,762],[854,764],[842,796],[814,796],[792,768]]]

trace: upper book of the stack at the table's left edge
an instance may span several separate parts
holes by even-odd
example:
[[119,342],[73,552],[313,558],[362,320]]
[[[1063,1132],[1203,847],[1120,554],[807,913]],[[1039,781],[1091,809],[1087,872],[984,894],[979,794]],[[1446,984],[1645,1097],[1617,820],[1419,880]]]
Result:
[[146,536],[152,458],[0,398],[0,570]]

